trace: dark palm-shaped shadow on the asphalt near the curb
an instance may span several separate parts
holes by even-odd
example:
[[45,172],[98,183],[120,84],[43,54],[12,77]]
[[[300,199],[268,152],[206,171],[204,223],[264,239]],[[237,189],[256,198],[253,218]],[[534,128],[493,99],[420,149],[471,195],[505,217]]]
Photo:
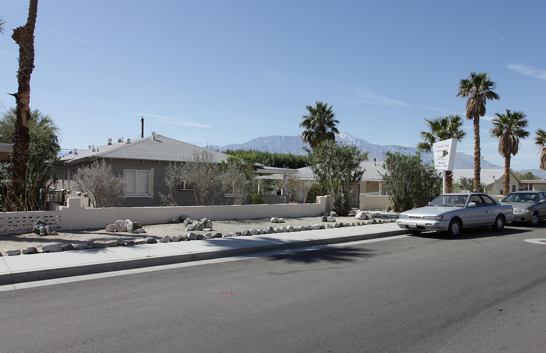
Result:
[[369,250],[355,247],[336,247],[298,253],[269,256],[270,261],[286,261],[293,264],[312,264],[321,261],[350,262],[373,256]]

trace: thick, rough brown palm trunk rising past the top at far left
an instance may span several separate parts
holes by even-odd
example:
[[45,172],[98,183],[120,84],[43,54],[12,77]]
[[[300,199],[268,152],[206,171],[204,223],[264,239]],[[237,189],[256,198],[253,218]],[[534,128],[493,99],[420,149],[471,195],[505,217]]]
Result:
[[19,45],[19,71],[17,71],[17,82],[19,89],[17,93],[11,94],[15,97],[16,121],[14,126],[13,152],[11,153],[11,187],[8,190],[7,211],[16,211],[17,201],[21,197],[22,184],[25,181],[28,144],[28,122],[31,118],[30,95],[31,95],[31,74],[34,69],[34,26],[38,12],[38,0],[30,0],[28,8],[27,24],[13,30],[11,38]]

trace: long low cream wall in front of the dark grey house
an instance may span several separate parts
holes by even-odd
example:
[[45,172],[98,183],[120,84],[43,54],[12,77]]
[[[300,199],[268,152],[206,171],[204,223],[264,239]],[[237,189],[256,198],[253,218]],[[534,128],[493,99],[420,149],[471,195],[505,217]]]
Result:
[[104,228],[118,219],[146,224],[168,223],[184,215],[192,219],[258,219],[316,217],[332,210],[330,196],[319,196],[316,204],[180,206],[180,207],[114,207],[80,208],[79,198],[68,198],[67,206],[55,211],[0,213],[0,234],[32,231],[35,220],[43,219],[57,231]]

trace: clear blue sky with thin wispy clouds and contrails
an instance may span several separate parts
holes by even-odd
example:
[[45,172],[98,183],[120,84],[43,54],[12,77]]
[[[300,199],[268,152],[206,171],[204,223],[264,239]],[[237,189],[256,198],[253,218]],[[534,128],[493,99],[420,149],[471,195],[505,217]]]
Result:
[[[84,149],[151,131],[199,146],[299,135],[305,106],[333,105],[339,130],[379,145],[415,146],[424,119],[464,115],[455,95],[489,72],[482,155],[503,166],[491,118],[521,110],[546,129],[546,3],[537,1],[41,0],[31,106]],[[13,107],[28,2],[0,16],[0,103]],[[473,154],[472,122],[457,151]],[[538,168],[532,139],[514,170]]]

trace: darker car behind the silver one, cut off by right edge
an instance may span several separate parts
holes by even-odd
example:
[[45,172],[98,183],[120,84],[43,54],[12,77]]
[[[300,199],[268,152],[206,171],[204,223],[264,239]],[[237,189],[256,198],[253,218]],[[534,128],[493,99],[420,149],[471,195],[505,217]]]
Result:
[[538,225],[546,219],[546,193],[542,191],[517,191],[502,199],[501,204],[514,208],[512,222],[528,222]]

